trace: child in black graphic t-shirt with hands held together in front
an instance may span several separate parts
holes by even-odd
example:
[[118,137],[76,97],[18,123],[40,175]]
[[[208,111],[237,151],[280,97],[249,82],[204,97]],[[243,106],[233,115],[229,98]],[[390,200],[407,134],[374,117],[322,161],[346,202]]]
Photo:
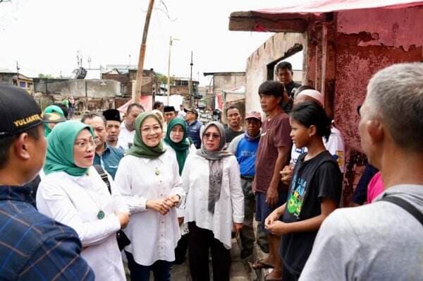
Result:
[[266,218],[265,227],[272,234],[283,235],[283,280],[298,280],[321,223],[341,200],[342,174],[321,138],[331,133],[323,108],[315,102],[296,105],[290,113],[290,126],[293,143],[297,148],[307,147],[308,152],[295,164],[286,204]]

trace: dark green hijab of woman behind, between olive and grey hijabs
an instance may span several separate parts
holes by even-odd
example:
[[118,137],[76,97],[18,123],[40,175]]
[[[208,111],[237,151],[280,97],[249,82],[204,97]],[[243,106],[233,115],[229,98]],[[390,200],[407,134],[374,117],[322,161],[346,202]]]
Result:
[[[183,138],[180,140],[179,143],[173,142],[171,140],[171,131],[172,128],[176,125],[180,125],[183,128]],[[185,165],[185,160],[188,157],[188,153],[190,153],[190,140],[187,137],[187,124],[185,120],[180,118],[173,118],[169,124],[168,124],[168,130],[166,132],[166,137],[164,138],[164,141],[168,145],[171,146],[176,152],[176,160],[178,160],[178,166],[179,166],[179,175],[182,174],[183,166]]]

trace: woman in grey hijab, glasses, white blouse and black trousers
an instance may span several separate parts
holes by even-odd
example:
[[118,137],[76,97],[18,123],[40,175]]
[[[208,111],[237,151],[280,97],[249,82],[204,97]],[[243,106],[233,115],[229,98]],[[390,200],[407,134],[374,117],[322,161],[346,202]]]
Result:
[[244,195],[235,156],[224,150],[225,131],[210,122],[201,133],[202,147],[190,154],[182,173],[187,192],[188,256],[193,281],[209,280],[209,248],[214,280],[229,280],[231,232],[244,221]]

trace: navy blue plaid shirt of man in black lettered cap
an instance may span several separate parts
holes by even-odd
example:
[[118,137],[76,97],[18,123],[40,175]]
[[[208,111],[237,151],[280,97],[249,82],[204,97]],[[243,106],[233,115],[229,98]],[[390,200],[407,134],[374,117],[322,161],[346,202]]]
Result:
[[39,213],[30,190],[0,186],[0,280],[94,280],[78,234]]

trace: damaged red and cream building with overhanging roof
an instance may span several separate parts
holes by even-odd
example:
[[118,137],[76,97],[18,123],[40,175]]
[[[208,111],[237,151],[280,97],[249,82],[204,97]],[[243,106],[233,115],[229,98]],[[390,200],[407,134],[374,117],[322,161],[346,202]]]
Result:
[[344,204],[367,161],[361,153],[357,106],[376,71],[423,61],[423,1],[317,0],[231,13],[229,30],[277,32],[247,59],[247,110],[259,109],[257,88],[274,66],[303,51],[303,85],[325,95],[325,109],[344,137]]

